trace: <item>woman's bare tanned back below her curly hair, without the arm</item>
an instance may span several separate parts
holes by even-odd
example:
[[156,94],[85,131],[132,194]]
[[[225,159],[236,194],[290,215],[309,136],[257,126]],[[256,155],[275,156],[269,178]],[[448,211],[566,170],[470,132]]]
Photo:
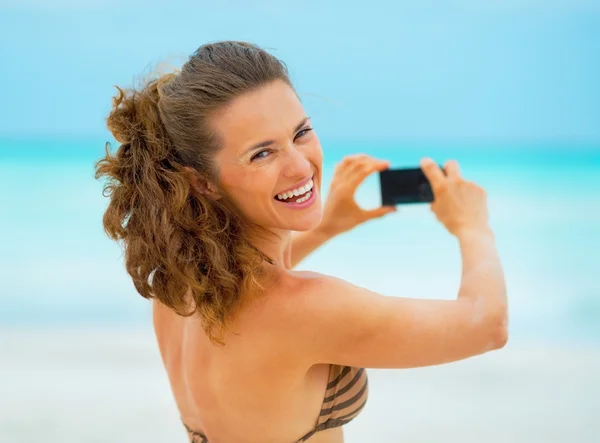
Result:
[[[314,427],[329,365],[295,367],[286,358],[293,345],[270,327],[278,323],[277,306],[302,295],[302,279],[286,272],[278,279],[283,282],[237,316],[224,347],[209,341],[197,317],[178,316],[154,301],[154,328],[182,421],[210,443],[293,442]],[[310,438],[342,441],[342,428]]]

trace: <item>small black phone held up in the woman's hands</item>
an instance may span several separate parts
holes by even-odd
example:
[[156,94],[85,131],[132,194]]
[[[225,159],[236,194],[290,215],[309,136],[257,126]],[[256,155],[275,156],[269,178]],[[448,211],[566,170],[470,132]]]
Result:
[[[440,168],[444,171],[442,166]],[[431,184],[420,167],[380,171],[379,183],[382,206],[433,201]]]

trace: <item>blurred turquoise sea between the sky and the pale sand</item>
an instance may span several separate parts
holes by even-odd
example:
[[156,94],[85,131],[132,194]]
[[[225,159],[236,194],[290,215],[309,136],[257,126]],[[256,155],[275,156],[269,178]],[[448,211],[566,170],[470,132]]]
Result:
[[[144,324],[121,250],[102,231],[107,199],[93,178],[105,140],[0,140],[0,324]],[[600,342],[600,145],[322,140],[326,195],[333,167],[365,152],[392,167],[423,156],[459,161],[488,191],[505,266],[513,339]],[[113,149],[116,145],[113,144]],[[380,204],[377,175],[359,203]],[[427,205],[333,239],[300,264],[386,295],[452,298],[460,283],[453,237]]]

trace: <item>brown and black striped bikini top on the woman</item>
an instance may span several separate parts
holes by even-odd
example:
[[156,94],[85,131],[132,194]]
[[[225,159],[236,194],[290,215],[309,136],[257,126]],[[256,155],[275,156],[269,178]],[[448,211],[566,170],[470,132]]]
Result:
[[[367,372],[363,368],[330,365],[329,379],[321,413],[312,431],[295,443],[307,441],[315,433],[343,426],[356,417],[365,406],[369,394]],[[185,423],[184,423],[185,426]],[[185,426],[191,443],[209,443],[201,432]]]

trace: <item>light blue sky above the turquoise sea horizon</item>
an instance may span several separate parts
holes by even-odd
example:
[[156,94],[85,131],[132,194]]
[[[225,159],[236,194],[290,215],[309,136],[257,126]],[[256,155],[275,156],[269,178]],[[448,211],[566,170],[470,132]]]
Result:
[[114,85],[218,40],[321,136],[600,142],[600,0],[0,0],[0,137],[105,135]]

